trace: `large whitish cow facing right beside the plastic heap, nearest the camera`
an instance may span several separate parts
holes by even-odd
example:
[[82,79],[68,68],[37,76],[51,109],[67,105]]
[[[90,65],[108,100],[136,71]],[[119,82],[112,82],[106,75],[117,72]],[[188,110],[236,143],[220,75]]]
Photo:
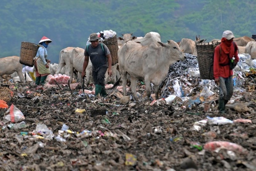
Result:
[[136,80],[144,79],[147,97],[151,95],[150,83],[155,85],[155,97],[159,99],[159,85],[166,78],[169,66],[178,61],[184,60],[184,53],[173,40],[168,43],[151,43],[142,46],[139,43],[129,41],[118,50],[118,64],[122,77],[123,93],[126,95],[127,73],[131,77],[131,91],[137,101]]

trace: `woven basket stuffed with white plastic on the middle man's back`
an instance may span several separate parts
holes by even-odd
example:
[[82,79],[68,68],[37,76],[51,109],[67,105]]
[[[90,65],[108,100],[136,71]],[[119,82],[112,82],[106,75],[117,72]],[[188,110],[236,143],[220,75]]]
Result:
[[113,38],[108,38],[103,41],[103,43],[109,48],[110,55],[112,58],[112,65],[118,63],[117,52],[118,52],[118,44],[117,44],[117,35]]

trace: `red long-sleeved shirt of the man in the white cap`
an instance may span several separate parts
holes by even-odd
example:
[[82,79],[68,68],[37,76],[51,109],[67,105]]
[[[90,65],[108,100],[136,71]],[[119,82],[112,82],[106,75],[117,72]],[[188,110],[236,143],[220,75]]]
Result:
[[[233,43],[231,44],[231,49],[229,52],[229,57],[235,57],[235,62],[239,61],[238,57],[238,51],[233,46]],[[221,66],[220,64],[228,64],[229,58],[228,55],[225,54],[223,50],[221,50],[221,56],[220,56],[220,46],[217,46],[214,50],[214,60],[213,60],[213,76],[214,78],[228,78],[229,76],[233,75],[233,70],[230,70],[229,65]]]

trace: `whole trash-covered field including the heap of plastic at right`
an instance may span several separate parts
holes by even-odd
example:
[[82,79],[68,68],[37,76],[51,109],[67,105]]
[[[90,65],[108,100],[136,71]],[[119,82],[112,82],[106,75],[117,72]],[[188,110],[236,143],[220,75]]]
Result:
[[13,98],[0,108],[0,170],[256,170],[256,72],[240,59],[224,116],[217,85],[200,80],[188,54],[170,66],[157,101],[143,101],[142,80],[138,102],[129,87],[130,96],[95,99],[77,83],[3,82]]

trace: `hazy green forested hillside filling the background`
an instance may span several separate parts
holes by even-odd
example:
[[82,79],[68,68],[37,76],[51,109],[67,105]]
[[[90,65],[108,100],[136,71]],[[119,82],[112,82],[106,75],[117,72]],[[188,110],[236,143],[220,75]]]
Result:
[[1,0],[0,57],[19,56],[22,41],[52,39],[52,62],[68,46],[85,47],[89,34],[114,30],[117,36],[155,31],[162,42],[181,38],[210,41],[224,30],[236,37],[256,34],[255,0]]

